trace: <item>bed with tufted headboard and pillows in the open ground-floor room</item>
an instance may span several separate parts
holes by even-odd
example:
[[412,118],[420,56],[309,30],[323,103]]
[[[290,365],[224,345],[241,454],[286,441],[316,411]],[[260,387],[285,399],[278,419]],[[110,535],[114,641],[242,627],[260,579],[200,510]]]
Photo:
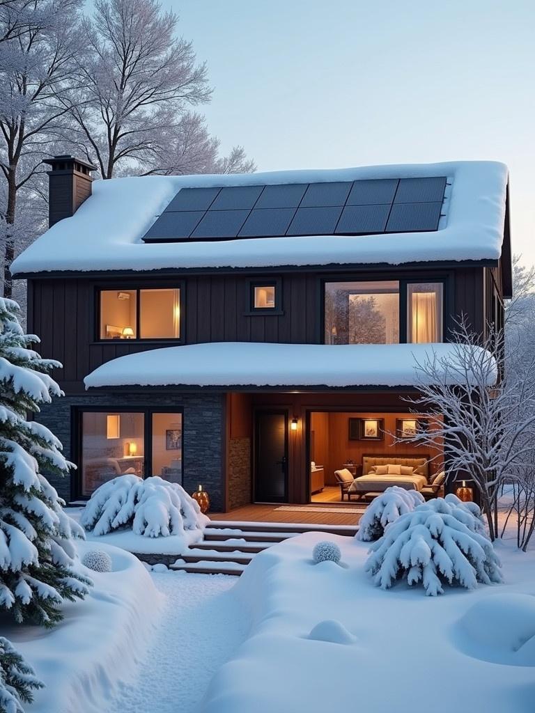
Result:
[[[399,466],[400,473],[383,473],[385,466]],[[412,468],[412,473],[409,473]],[[376,471],[379,472],[376,472]],[[405,471],[405,472],[403,472]],[[429,456],[362,456],[362,476],[355,478],[347,489],[347,499],[352,495],[382,493],[390,486],[421,491],[429,478]]]

